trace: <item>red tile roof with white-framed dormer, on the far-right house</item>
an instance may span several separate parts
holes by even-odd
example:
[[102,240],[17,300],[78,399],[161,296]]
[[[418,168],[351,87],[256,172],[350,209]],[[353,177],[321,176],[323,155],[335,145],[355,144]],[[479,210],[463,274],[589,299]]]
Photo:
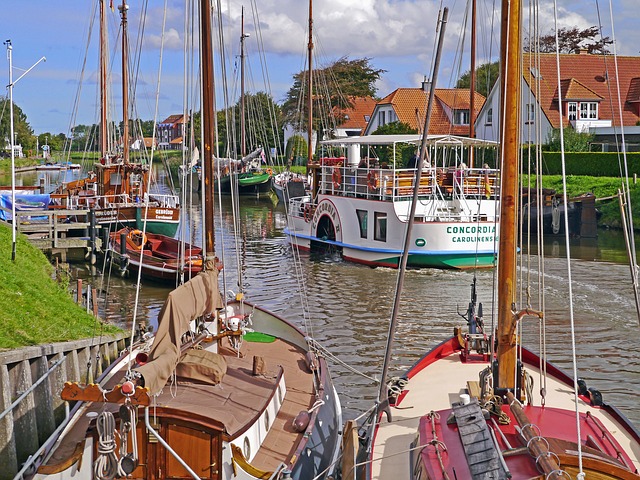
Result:
[[[598,115],[600,120],[611,120],[612,125],[620,126],[620,109],[618,108],[618,95],[616,85],[620,85],[620,97],[622,98],[622,121],[624,125],[635,125],[640,117],[637,107],[632,104],[632,98],[640,100],[640,83],[638,73],[640,72],[640,57],[617,58],[618,79],[615,78],[615,65],[613,57],[610,55],[589,55],[561,54],[560,58],[560,78],[563,92],[563,99],[575,100],[598,100]],[[543,53],[539,57],[539,66],[534,65],[533,54],[525,54],[523,59],[523,77],[527,84],[535,87],[536,81],[540,84],[539,97],[540,106],[544,114],[554,128],[560,126],[558,113],[558,74],[556,69],[555,53]],[[566,85],[566,89],[565,89]],[[532,90],[535,89],[534,87]],[[586,97],[582,97],[585,95]],[[610,101],[610,95],[613,97]],[[631,95],[631,98],[630,96]],[[613,106],[613,109],[612,109]],[[564,125],[569,122],[566,116],[563,118]]]

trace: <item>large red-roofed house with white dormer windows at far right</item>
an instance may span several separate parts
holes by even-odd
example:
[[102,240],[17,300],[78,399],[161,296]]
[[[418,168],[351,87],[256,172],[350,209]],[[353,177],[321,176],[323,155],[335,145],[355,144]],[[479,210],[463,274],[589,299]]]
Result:
[[[549,139],[562,124],[579,132],[603,137],[620,126],[638,130],[640,121],[640,57],[614,57],[585,52],[559,55],[560,82],[556,54],[525,54],[522,71],[523,143]],[[620,103],[617,87],[620,86]],[[499,81],[494,85],[476,121],[479,138],[499,138]],[[635,127],[635,128],[634,128]],[[640,132],[639,132],[640,133]]]

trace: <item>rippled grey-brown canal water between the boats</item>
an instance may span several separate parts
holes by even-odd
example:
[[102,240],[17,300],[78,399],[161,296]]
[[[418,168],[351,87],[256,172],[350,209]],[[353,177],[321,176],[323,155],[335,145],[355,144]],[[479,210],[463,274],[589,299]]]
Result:
[[[382,367],[398,272],[355,265],[330,255],[302,255],[298,259],[283,234],[284,207],[274,206],[269,200],[242,198],[236,224],[228,199],[222,202],[221,210],[216,214],[216,245],[225,264],[225,292],[238,291],[241,282],[249,301],[306,329],[331,353],[330,366],[345,418],[360,415],[373,404],[378,390],[376,378]],[[186,228],[186,238],[200,244],[199,205],[188,215],[194,224]],[[564,250],[563,240],[545,243],[546,338],[551,360],[571,373]],[[605,401],[640,425],[640,410],[636,408],[640,393],[639,322],[625,264],[624,239],[618,232],[601,231],[597,240],[574,240],[571,255],[578,375],[589,387],[603,392]],[[85,285],[91,283],[103,292],[100,308],[107,320],[125,327],[131,324],[136,298],[131,280],[100,276],[102,271],[108,273],[108,267],[102,265],[73,268]],[[539,269],[532,262],[528,275],[536,278]],[[474,274],[425,269],[407,273],[392,375],[402,375],[426,350],[450,336],[454,327],[464,325],[460,313],[469,301],[474,275],[488,325],[493,271]],[[137,320],[153,324],[169,291],[166,286],[143,284]],[[524,321],[524,341],[534,350],[538,331],[536,320]],[[466,380],[461,379],[461,385]],[[539,387],[535,385],[534,390]]]

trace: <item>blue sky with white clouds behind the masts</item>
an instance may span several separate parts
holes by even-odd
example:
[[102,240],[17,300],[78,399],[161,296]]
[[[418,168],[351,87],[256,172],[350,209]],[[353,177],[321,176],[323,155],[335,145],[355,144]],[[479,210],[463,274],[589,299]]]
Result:
[[[120,22],[117,6],[121,3],[121,0],[113,1],[116,8],[113,12],[108,11],[111,46],[119,41],[116,38]],[[184,11],[185,3],[189,2],[150,0],[143,16],[145,3],[129,1],[132,48],[137,45],[138,38],[142,38],[139,54],[133,54],[139,58],[133,62],[139,65],[135,69],[136,116],[162,121],[169,115],[182,113],[184,98],[191,98],[184,93],[183,80],[185,71],[194,70],[184,60],[184,25],[187,23]],[[220,0],[214,3],[220,4],[219,11],[218,7],[215,10],[223,24],[230,98],[237,99],[238,88],[233,86],[233,79],[238,78],[244,8],[245,33],[249,34],[245,41],[246,90],[266,91],[281,103],[293,83],[292,76],[306,68],[309,3],[305,0],[260,0],[258,4],[256,0]],[[27,115],[36,134],[68,134],[73,125],[98,121],[97,4],[98,0],[0,0],[0,39],[3,42],[11,40],[13,80],[41,57],[46,57],[45,62],[39,63],[13,88],[14,102]],[[497,59],[499,4],[499,0],[477,0],[477,64]],[[557,5],[559,27],[587,28],[600,24],[604,35],[609,37],[613,37],[613,28],[618,54],[640,53],[637,0],[611,0],[611,3],[557,0]],[[371,59],[373,68],[385,70],[376,84],[379,97],[396,88],[419,87],[425,77],[432,76],[436,23],[441,6],[449,8],[449,21],[437,85],[453,87],[456,79],[469,70],[470,36],[465,20],[469,7],[466,0],[316,0],[313,4],[314,64],[322,67],[342,57]],[[524,9],[527,17],[528,3],[524,3]],[[537,10],[540,30],[543,34],[551,33],[553,2],[539,0]],[[613,26],[610,11],[613,11]],[[142,17],[146,19],[144,35],[139,34]],[[525,19],[524,23],[526,25],[528,21]],[[2,48],[6,56],[0,62],[0,81],[6,87],[10,83],[9,60],[6,45]],[[121,95],[115,93],[120,89],[120,67],[114,63],[113,68],[114,113],[111,115],[120,119]],[[221,71],[220,67],[216,69]],[[222,84],[219,82],[218,86]],[[8,94],[9,90],[5,88],[1,95]],[[219,102],[217,108],[222,107]]]

